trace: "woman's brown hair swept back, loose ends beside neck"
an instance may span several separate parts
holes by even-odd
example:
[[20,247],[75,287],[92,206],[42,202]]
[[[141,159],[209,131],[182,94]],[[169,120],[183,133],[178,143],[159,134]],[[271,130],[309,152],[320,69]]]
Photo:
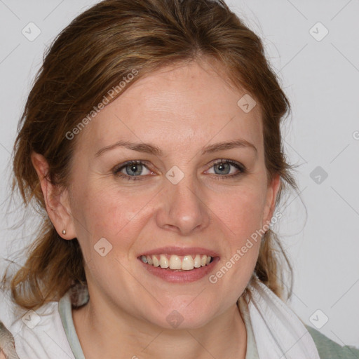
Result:
[[[262,41],[224,1],[102,1],[74,19],[50,46],[18,126],[12,191],[20,191],[25,205],[34,203],[43,222],[25,265],[11,279],[17,304],[37,309],[60,299],[75,283],[86,283],[79,242],[61,238],[46,215],[39,177],[30,158],[32,151],[48,161],[48,179],[53,184],[59,189],[69,186],[79,136],[69,140],[67,134],[109,89],[118,86],[133,69],[138,74],[126,89],[160,67],[201,59],[220,64],[229,81],[244,88],[261,106],[269,181],[274,175],[281,178],[276,205],[287,184],[297,189],[280,134],[280,123],[290,104],[266,61]],[[278,236],[269,229],[255,273],[278,296],[283,296],[285,263],[292,283],[290,263]]]

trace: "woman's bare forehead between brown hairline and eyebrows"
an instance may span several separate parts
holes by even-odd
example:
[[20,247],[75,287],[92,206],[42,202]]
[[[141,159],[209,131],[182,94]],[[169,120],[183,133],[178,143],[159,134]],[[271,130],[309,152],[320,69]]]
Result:
[[238,137],[261,147],[262,120],[257,104],[238,106],[244,90],[229,86],[206,63],[165,67],[133,83],[104,107],[81,134],[81,147],[95,151],[118,140],[156,142],[186,150]]

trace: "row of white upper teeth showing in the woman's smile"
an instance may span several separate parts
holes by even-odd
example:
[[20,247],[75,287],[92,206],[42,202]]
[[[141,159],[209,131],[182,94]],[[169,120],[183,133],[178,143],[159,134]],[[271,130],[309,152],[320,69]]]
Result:
[[215,257],[208,255],[142,255],[139,259],[150,266],[161,267],[168,271],[191,271],[213,262]]

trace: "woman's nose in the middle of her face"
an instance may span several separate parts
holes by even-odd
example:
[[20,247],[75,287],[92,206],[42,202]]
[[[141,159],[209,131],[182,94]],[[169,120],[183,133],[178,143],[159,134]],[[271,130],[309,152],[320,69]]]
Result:
[[193,177],[185,175],[177,184],[165,179],[164,186],[156,215],[159,227],[189,236],[208,226],[210,209],[205,203],[204,191]]

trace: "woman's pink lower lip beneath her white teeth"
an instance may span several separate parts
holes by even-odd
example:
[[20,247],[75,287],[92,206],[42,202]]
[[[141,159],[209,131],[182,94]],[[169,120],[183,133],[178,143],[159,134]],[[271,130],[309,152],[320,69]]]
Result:
[[210,264],[206,266],[201,266],[201,268],[195,268],[191,271],[168,271],[167,269],[161,268],[160,266],[152,266],[150,264],[146,264],[139,259],[142,265],[144,266],[149,273],[157,276],[167,282],[171,283],[189,283],[195,282],[196,280],[200,280],[203,277],[207,276],[210,271],[215,267],[217,262],[219,262],[219,257],[215,257]]

